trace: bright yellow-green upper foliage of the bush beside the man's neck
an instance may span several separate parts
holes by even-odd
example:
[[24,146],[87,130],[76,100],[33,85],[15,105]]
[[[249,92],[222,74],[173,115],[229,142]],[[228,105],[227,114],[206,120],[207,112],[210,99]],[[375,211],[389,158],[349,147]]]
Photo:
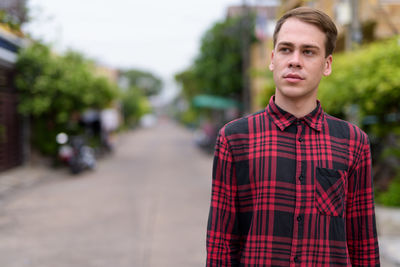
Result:
[[319,86],[319,99],[331,114],[357,104],[360,115],[385,115],[400,109],[400,44],[391,39],[335,54],[332,74]]

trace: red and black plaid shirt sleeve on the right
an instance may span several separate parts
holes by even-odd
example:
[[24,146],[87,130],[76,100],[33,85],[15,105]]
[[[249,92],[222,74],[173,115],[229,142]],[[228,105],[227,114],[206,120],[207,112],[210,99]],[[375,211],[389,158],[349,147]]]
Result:
[[360,158],[350,174],[346,211],[347,245],[352,266],[380,266],[376,233],[371,152],[365,134]]

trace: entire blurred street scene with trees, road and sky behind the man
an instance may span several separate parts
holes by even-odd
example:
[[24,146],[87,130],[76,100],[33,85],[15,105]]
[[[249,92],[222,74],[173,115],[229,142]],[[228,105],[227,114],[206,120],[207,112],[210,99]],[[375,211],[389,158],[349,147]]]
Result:
[[203,266],[217,132],[267,105],[299,6],[338,27],[319,99],[369,135],[400,266],[398,0],[1,0],[0,265]]

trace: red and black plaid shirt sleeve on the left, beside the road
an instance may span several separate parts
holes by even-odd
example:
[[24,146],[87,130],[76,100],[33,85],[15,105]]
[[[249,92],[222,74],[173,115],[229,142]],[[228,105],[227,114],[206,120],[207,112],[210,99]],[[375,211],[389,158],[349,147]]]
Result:
[[206,266],[239,266],[236,172],[224,128],[217,138],[212,175]]

